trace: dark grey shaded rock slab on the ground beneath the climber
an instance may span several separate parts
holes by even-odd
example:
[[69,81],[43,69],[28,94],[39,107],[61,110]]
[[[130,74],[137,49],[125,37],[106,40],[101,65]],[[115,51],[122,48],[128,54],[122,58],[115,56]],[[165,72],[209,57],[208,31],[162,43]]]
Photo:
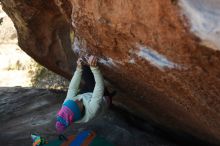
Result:
[[[56,138],[55,115],[65,95],[65,92],[58,90],[0,88],[1,145],[31,145],[31,133],[39,134],[49,140]],[[140,121],[114,106],[95,121],[83,125],[72,125],[65,134],[94,130],[97,135],[118,146],[183,145],[181,141],[167,138],[166,133],[144,121],[140,123]],[[145,130],[141,129],[140,125],[144,125]]]

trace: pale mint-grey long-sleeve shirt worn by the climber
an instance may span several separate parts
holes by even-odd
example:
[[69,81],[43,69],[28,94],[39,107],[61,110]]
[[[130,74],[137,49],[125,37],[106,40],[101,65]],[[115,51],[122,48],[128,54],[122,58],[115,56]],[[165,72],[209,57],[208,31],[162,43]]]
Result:
[[[94,119],[102,110],[106,109],[106,103],[103,102],[104,81],[102,74],[98,67],[90,67],[95,78],[95,88],[93,93],[79,94],[79,85],[82,76],[82,69],[77,68],[73,78],[71,79],[66,100],[83,100],[85,106],[85,115],[76,123],[84,123]],[[64,101],[64,102],[65,102]],[[101,111],[100,111],[101,110]]]

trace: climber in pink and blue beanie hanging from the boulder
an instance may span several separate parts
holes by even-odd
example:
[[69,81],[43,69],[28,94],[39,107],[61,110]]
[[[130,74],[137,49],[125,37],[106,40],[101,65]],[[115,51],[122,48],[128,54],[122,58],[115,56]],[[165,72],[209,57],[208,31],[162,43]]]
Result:
[[[89,65],[90,68],[85,64]],[[78,94],[82,76],[85,76],[84,81],[88,86],[85,86]],[[97,66],[97,58],[95,56],[90,56],[88,59],[79,58],[66,99],[57,114],[57,132],[62,134],[73,122],[86,123],[94,119],[111,105],[111,97],[114,94],[115,92],[109,94],[107,88],[104,88],[103,77]]]

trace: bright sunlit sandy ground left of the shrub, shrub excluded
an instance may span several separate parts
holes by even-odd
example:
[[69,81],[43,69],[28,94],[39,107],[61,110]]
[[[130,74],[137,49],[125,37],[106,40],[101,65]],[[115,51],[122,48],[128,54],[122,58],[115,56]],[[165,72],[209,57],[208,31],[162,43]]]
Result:
[[[27,66],[33,60],[17,45],[17,34],[11,19],[0,6],[0,86],[31,86]],[[26,66],[26,68],[25,68]]]

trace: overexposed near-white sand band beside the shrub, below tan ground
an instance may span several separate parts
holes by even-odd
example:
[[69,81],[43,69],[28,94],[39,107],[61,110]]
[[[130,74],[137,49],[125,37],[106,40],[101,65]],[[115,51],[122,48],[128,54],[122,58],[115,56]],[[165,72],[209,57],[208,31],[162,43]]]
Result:
[[33,61],[16,44],[0,44],[0,86],[31,86],[27,67]]

